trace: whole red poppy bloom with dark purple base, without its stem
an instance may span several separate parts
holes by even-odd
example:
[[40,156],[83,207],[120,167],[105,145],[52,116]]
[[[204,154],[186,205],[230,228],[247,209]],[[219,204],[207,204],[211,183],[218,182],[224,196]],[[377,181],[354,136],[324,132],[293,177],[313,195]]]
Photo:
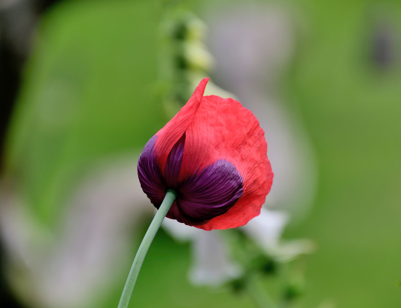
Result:
[[260,214],[273,182],[259,121],[232,98],[203,96],[203,79],[181,110],[146,143],[138,160],[142,190],[166,217],[204,230],[236,228]]

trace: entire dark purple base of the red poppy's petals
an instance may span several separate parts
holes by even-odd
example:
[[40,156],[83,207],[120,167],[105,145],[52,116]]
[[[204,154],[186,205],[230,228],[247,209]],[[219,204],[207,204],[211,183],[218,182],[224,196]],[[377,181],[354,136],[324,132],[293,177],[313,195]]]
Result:
[[166,190],[176,191],[178,197],[167,216],[190,225],[201,225],[227,212],[242,196],[242,177],[235,166],[219,159],[197,175],[178,183],[184,153],[185,133],[170,151],[162,177],[156,163],[157,153],[153,136],[138,160],[138,177],[142,190],[156,208],[160,207]]

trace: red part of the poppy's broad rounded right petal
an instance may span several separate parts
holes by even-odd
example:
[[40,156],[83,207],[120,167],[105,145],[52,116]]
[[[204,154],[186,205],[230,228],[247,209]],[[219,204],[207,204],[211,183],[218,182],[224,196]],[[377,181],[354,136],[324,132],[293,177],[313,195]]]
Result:
[[235,228],[259,215],[273,172],[264,131],[253,113],[232,98],[204,96],[186,129],[179,181],[218,159],[235,165],[243,177],[244,193],[227,213],[197,226],[205,230]]

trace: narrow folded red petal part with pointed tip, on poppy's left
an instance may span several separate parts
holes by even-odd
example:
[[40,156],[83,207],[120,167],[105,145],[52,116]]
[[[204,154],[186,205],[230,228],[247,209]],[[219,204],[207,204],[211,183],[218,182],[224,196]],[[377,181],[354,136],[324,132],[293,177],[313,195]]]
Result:
[[170,153],[178,139],[181,138],[188,125],[194,120],[195,112],[198,110],[199,104],[201,103],[203,92],[205,92],[208,81],[209,78],[201,80],[188,102],[180,109],[174,118],[156,133],[158,137],[155,143],[155,152],[162,175],[164,175],[164,167],[166,165],[168,153]]

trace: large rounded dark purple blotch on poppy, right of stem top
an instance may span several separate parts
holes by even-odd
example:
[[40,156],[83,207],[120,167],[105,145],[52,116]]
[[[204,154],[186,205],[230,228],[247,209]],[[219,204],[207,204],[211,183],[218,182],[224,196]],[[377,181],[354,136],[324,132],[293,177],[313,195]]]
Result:
[[243,194],[242,177],[233,163],[219,159],[179,185],[177,207],[181,216],[202,224],[226,213]]

